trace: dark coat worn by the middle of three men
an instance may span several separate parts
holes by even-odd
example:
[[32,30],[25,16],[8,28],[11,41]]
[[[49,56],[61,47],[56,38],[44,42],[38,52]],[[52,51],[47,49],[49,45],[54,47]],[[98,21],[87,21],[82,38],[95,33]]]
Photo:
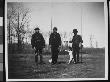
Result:
[[49,45],[59,47],[61,45],[61,37],[59,33],[51,33]]

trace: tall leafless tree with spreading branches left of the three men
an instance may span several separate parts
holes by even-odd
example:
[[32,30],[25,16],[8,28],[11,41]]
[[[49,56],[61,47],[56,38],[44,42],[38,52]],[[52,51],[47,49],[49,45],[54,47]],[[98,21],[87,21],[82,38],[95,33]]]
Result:
[[11,37],[11,31],[14,29],[14,34],[17,38],[18,49],[21,49],[21,44],[24,41],[26,34],[25,28],[29,24],[29,9],[25,8],[23,3],[8,3],[8,32],[9,32],[9,43]]

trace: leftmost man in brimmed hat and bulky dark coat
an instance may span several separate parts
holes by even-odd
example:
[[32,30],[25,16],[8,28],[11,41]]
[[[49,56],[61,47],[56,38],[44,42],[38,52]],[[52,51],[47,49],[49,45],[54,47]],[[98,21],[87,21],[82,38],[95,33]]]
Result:
[[38,64],[38,55],[40,56],[40,63],[43,63],[42,50],[45,47],[45,40],[41,33],[39,33],[39,28],[35,28],[35,33],[32,35],[31,45],[35,49],[35,62]]

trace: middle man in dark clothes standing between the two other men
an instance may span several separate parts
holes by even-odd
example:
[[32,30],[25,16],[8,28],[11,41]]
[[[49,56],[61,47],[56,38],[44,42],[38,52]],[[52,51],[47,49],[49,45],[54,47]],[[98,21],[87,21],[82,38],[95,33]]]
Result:
[[53,33],[51,33],[49,38],[49,45],[51,46],[52,52],[52,64],[57,63],[59,47],[61,46],[61,37],[60,34],[57,33],[57,28],[53,28]]

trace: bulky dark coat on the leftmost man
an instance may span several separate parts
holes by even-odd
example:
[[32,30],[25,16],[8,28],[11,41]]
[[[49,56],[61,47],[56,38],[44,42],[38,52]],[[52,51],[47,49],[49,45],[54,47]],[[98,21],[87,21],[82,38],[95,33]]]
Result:
[[42,49],[45,47],[45,40],[41,33],[34,33],[31,39],[32,48],[36,47],[37,49]]

